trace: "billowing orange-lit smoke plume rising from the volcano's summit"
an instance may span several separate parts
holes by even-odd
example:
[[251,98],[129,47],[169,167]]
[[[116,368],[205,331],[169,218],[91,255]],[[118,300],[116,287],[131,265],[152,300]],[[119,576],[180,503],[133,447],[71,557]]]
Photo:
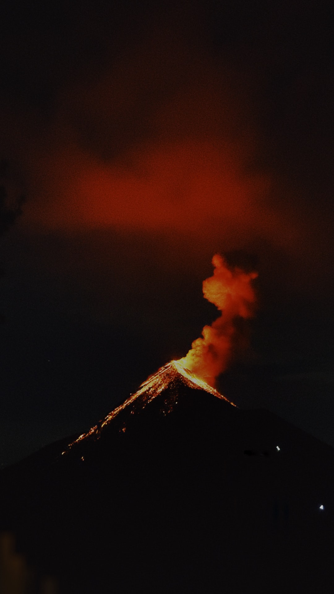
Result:
[[256,297],[251,282],[257,273],[230,270],[219,254],[214,255],[212,264],[214,276],[203,281],[203,295],[221,311],[221,316],[211,326],[204,326],[202,337],[194,340],[180,363],[214,386],[215,378],[225,371],[231,358],[236,319],[253,316]]

